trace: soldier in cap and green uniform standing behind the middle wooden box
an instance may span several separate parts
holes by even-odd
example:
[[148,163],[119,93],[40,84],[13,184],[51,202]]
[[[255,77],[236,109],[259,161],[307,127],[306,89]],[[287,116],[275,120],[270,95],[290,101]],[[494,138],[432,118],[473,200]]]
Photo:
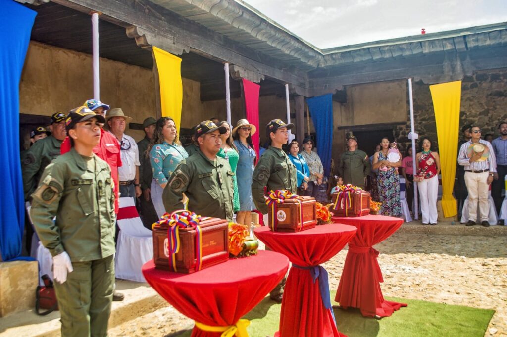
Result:
[[[272,120],[266,126],[270,146],[261,156],[252,176],[253,202],[263,214],[268,213],[264,198],[265,186],[268,193],[271,190],[287,190],[296,193],[298,190],[296,167],[282,150],[282,145],[288,140],[287,130],[293,127],[294,124],[285,124],[279,119]],[[285,278],[270,292],[269,295],[273,301],[281,303],[284,285]]]

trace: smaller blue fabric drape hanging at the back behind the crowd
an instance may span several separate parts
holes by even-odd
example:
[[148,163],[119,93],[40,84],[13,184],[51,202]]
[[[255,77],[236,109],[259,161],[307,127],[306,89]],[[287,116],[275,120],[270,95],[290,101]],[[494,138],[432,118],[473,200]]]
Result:
[[324,175],[329,176],[333,144],[333,94],[308,98],[306,101],[317,133],[317,155],[324,167]]

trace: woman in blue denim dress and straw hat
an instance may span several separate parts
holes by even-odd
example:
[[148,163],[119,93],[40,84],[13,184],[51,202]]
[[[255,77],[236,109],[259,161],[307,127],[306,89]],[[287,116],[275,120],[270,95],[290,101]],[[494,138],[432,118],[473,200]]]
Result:
[[236,222],[246,224],[250,227],[251,211],[255,209],[252,199],[252,174],[255,169],[257,155],[252,143],[252,134],[255,134],[256,127],[241,119],[232,129],[234,144],[238,149],[239,161],[236,168],[239,193],[239,211],[236,215]]

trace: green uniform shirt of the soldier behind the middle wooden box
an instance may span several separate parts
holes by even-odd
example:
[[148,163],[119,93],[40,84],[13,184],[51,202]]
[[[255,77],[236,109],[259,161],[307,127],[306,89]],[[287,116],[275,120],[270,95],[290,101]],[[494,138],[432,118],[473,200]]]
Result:
[[288,190],[292,193],[297,192],[298,180],[296,167],[281,148],[269,146],[253,171],[253,202],[259,211],[266,214],[268,213],[268,206],[264,198],[264,186],[267,187],[268,193],[271,190]]

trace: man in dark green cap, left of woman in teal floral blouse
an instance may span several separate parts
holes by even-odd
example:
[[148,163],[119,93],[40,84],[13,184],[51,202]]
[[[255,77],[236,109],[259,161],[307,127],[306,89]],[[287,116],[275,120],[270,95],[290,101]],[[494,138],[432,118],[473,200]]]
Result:
[[144,226],[151,229],[152,223],[158,220],[157,211],[152,203],[150,194],[150,186],[153,180],[152,166],[150,165],[150,158],[147,156],[146,150],[148,145],[153,141],[153,134],[155,133],[155,124],[157,120],[153,117],[148,117],[142,122],[144,129],[144,138],[137,142],[139,149],[139,183],[141,184],[142,196],[139,198],[141,202],[141,218]]

